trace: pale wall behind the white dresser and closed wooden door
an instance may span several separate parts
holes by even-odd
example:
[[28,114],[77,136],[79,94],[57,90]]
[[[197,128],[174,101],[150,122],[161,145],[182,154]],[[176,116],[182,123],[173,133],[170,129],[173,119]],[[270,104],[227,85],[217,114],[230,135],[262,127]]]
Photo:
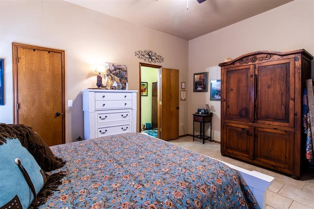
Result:
[[[164,58],[156,65],[179,69],[179,81],[187,82],[186,40],[62,0],[0,0],[0,57],[5,59],[5,105],[0,106],[3,123],[13,123],[12,42],[65,50],[65,99],[73,100],[73,107],[66,107],[66,142],[83,138],[80,91],[96,87],[92,71],[99,64],[125,64],[129,89],[139,90],[139,62],[144,61],[135,51],[152,50]],[[187,109],[187,103],[180,106]],[[180,111],[180,118],[184,117]]]

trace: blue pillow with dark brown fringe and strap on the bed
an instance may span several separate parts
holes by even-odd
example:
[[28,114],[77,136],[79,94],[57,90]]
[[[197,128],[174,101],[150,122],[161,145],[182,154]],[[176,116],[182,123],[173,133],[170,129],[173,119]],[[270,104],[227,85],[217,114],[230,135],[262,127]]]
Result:
[[19,201],[24,209],[37,208],[66,175],[61,171],[45,173],[20,140],[14,138],[0,139],[0,165],[0,208]]

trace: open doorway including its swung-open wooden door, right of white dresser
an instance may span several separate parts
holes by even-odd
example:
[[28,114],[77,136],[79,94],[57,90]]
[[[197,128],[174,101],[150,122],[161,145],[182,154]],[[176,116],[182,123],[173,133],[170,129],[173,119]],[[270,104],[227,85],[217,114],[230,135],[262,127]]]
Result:
[[[149,128],[156,124],[154,118],[157,109],[157,128],[155,128],[157,138],[163,140],[179,139],[179,70],[140,63],[139,71],[140,90],[142,91],[142,85],[145,86],[147,83],[147,94],[151,95],[146,96],[142,92],[140,94],[141,130],[148,131],[146,123],[150,126]],[[150,79],[150,74],[152,74],[152,79]],[[154,97],[156,89],[157,98]],[[147,118],[149,118],[148,122],[146,122]],[[144,125],[145,129],[143,129]]]

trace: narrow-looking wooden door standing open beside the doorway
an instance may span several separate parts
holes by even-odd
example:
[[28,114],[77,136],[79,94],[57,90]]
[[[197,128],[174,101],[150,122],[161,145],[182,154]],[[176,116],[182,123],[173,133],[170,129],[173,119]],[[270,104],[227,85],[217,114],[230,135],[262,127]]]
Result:
[[161,139],[179,139],[179,70],[161,70]]

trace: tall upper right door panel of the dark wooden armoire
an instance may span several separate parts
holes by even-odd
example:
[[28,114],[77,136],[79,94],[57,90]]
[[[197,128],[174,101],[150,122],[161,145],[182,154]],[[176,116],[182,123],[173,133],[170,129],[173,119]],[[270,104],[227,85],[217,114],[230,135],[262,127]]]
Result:
[[256,64],[256,121],[293,127],[294,59]]

